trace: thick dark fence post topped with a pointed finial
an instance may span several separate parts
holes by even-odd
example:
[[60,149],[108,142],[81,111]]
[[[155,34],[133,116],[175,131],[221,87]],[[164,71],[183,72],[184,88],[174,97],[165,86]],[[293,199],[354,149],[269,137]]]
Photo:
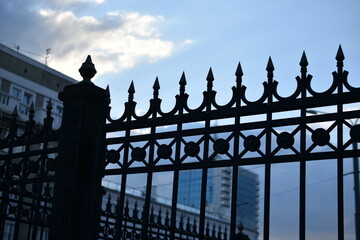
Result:
[[101,179],[104,166],[107,90],[90,79],[96,74],[91,57],[79,69],[83,81],[59,94],[64,112],[55,172],[51,240],[98,238]]

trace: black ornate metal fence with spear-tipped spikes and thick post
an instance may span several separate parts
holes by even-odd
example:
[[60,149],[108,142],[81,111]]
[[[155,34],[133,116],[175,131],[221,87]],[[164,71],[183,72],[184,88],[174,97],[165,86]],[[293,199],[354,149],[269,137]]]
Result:
[[[258,164],[265,166],[264,219],[260,227],[263,238],[269,239],[272,164],[298,162],[299,239],[305,239],[306,164],[335,159],[337,238],[344,239],[343,164],[345,158],[359,156],[352,144],[360,141],[360,125],[351,122],[360,117],[360,110],[358,106],[346,106],[360,102],[360,89],[348,82],[341,47],[336,60],[337,71],[333,72],[329,89],[319,93],[312,88],[303,53],[296,89],[283,97],[277,91],[270,58],[264,91],[256,101],[247,98],[239,64],[231,99],[224,105],[217,103],[210,69],[203,101],[195,109],[188,105],[183,74],[175,106],[169,112],[161,109],[156,79],[150,108],[142,116],[136,114],[135,87],[131,83],[123,115],[112,119],[109,91],[90,82],[96,70],[88,57],[80,68],[84,80],[66,87],[59,95],[64,102],[60,130],[51,130],[49,107],[44,130],[33,134],[30,111],[25,132],[18,136],[13,114],[9,133],[0,143],[0,235],[6,236],[11,223],[14,239],[45,239],[50,221],[52,239],[247,239],[241,228],[237,230],[238,173],[240,166]],[[322,107],[335,110],[310,114]],[[251,116],[262,118],[245,121]],[[188,129],[187,125],[194,122],[202,126]],[[319,123],[327,125],[319,127]],[[167,126],[171,127],[160,129]],[[147,131],[136,132],[142,129]],[[206,220],[208,171],[220,167],[232,171],[229,229],[211,226]],[[179,174],[189,169],[202,171],[200,211],[195,220],[179,216],[177,209]],[[152,208],[153,176],[158,172],[173,174],[172,202],[167,213]],[[141,214],[135,206],[130,209],[126,201],[128,178],[137,173],[146,174]],[[121,187],[112,204],[101,188],[101,179],[115,175],[121,179]],[[22,238],[24,232],[27,238]]]

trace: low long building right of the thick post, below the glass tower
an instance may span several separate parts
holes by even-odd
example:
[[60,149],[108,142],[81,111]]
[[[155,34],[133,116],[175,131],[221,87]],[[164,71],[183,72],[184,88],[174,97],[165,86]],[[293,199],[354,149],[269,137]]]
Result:
[[[114,216],[117,216],[115,213],[116,207],[117,207],[117,199],[119,197],[120,193],[120,185],[111,181],[108,181],[106,179],[102,180],[102,186],[104,187],[104,190],[106,191],[103,202],[102,202],[102,209],[103,211],[110,207],[108,209],[108,212],[110,214],[106,214],[103,212],[102,214],[102,227],[110,226],[111,228],[114,228],[115,221]],[[107,200],[107,201],[106,201]],[[126,188],[125,192],[125,201],[126,201],[126,207],[127,210],[121,209],[121,212],[127,211],[129,215],[132,217],[132,220],[127,223],[130,229],[134,229],[136,221],[134,221],[134,209],[136,209],[137,212],[137,218],[140,219],[142,215],[142,207],[144,205],[145,200],[145,191],[139,190],[139,189],[131,189]],[[110,206],[108,205],[110,203]],[[159,225],[166,225],[169,224],[170,220],[170,214],[171,214],[171,205],[172,201],[170,199],[158,196],[156,193],[156,188],[152,189],[152,197],[151,197],[151,212],[150,212],[150,222],[154,221],[156,222],[156,230],[155,232],[158,232],[157,227]],[[124,214],[126,215],[126,214]],[[151,217],[152,216],[152,217]],[[176,209],[176,228],[184,229],[183,232],[183,238],[181,239],[189,239],[191,237],[191,233],[198,232],[199,229],[199,216],[200,216],[200,210],[199,208],[190,207],[185,204],[178,203],[177,209]],[[124,216],[125,217],[125,216]],[[112,219],[111,219],[112,218]],[[159,218],[161,218],[159,223]],[[168,221],[166,220],[168,219]],[[168,222],[168,223],[166,223]],[[229,237],[229,221],[226,219],[220,218],[214,214],[206,213],[205,214],[205,225],[206,229],[205,232],[209,234],[209,236],[218,236],[219,232],[221,232],[221,239],[228,239]],[[182,226],[182,227],[181,227]],[[194,231],[194,228],[196,229]],[[139,229],[141,229],[141,226],[139,226]],[[111,231],[102,231],[103,233],[109,233]],[[155,233],[156,234],[156,233]],[[101,236],[101,234],[100,234]],[[105,238],[105,236],[103,236]],[[178,236],[179,237],[179,236]],[[111,238],[111,237],[110,237]],[[163,238],[161,238],[163,239]],[[165,238],[164,238],[165,239]],[[190,238],[192,239],[192,238]],[[220,238],[219,238],[220,239]]]

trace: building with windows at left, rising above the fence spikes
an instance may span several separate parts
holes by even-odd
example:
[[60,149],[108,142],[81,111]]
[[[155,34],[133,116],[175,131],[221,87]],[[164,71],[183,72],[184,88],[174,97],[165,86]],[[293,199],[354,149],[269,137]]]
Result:
[[74,83],[77,83],[75,79],[0,44],[0,110],[3,122],[11,118],[16,107],[21,125],[28,118],[31,104],[34,104],[34,120],[41,124],[51,99],[53,127],[58,128],[63,110],[58,93],[66,85]]

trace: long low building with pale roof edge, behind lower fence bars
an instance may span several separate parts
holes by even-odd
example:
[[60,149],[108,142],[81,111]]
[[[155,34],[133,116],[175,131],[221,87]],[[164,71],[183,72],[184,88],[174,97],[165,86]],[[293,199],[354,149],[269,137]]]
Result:
[[[120,193],[120,185],[103,179],[102,186],[106,193],[103,196],[102,214],[101,214],[101,232],[100,238],[113,239],[116,226],[117,199]],[[142,210],[145,200],[145,191],[126,187],[125,189],[125,209],[123,225],[126,225],[130,231],[140,232]],[[172,201],[170,199],[157,195],[156,188],[153,188],[151,197],[151,211],[149,215],[149,231],[155,239],[168,239],[170,227],[170,214]],[[119,209],[118,209],[119,210]],[[126,212],[128,214],[126,214]],[[134,216],[135,215],[135,216]],[[178,203],[176,209],[176,236],[181,239],[193,239],[194,233],[199,233],[199,208],[190,207]],[[129,217],[126,217],[129,216]],[[151,224],[152,223],[152,224]],[[217,239],[228,239],[229,221],[207,212],[205,214],[205,235]],[[166,232],[168,230],[168,232]],[[180,236],[181,235],[181,236]],[[221,237],[219,237],[221,236]],[[158,237],[158,238],[157,238]],[[136,237],[134,239],[137,239]]]

